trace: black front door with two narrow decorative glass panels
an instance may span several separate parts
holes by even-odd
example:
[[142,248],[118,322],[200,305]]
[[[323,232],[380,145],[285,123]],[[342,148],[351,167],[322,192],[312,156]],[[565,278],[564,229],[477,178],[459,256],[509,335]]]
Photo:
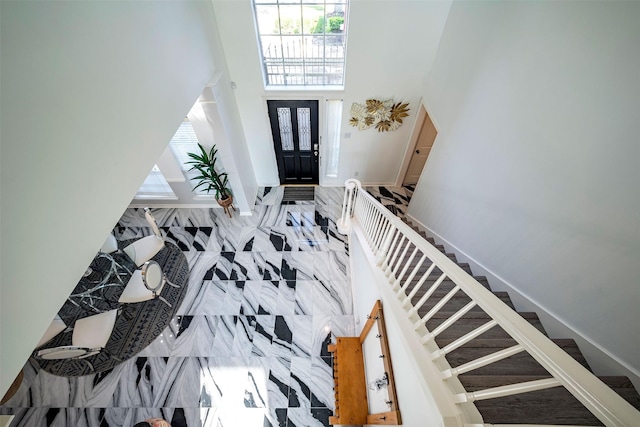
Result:
[[318,101],[267,101],[280,184],[318,183]]

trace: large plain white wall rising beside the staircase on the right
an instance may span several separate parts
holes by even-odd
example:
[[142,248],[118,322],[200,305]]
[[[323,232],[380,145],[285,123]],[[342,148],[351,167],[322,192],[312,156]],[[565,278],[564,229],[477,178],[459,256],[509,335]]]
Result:
[[454,2],[409,213],[640,371],[640,3]]

